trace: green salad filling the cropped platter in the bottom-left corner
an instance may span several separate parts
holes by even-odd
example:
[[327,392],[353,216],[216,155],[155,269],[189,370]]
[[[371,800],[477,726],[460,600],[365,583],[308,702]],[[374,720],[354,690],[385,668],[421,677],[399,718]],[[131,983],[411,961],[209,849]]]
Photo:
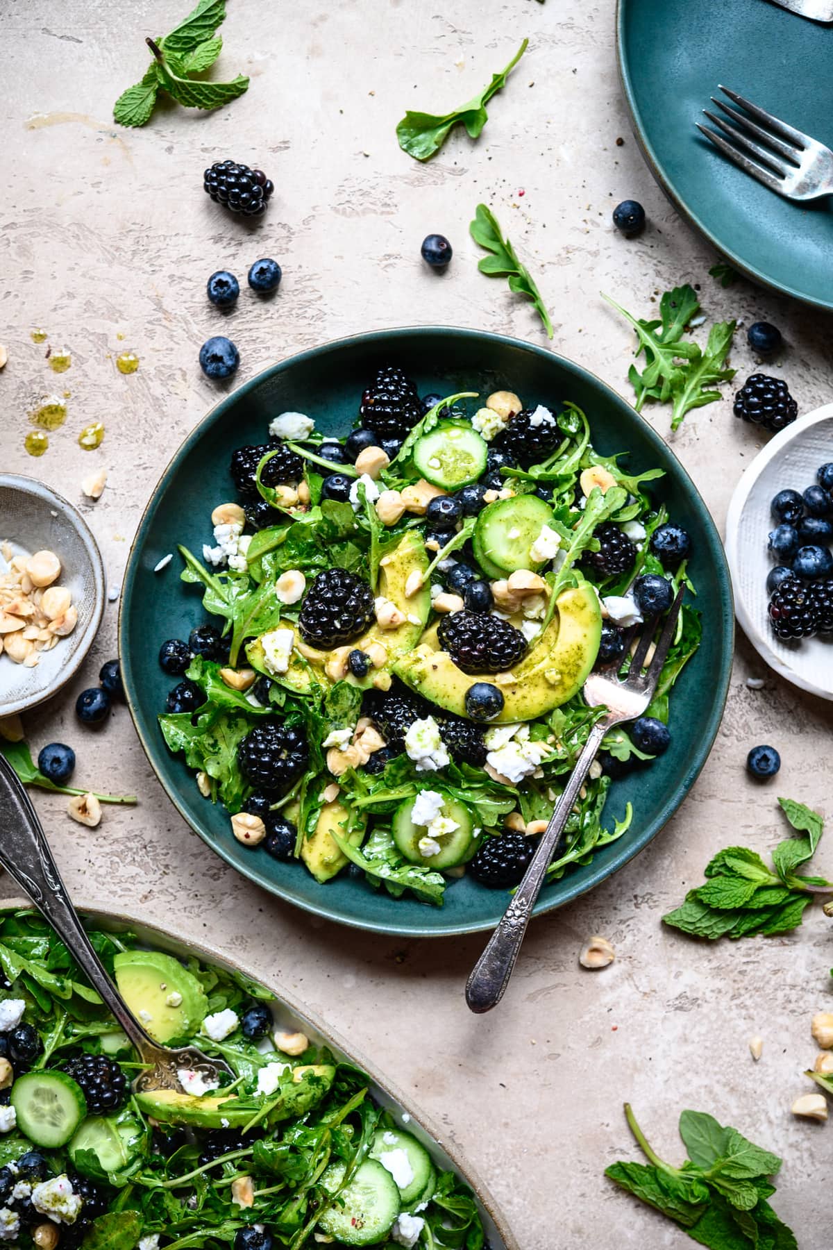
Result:
[[136,1052],[54,931],[0,918],[0,1242],[46,1250],[485,1246],[472,1191],[407,1112],[241,974],[89,934],[159,1042],[234,1076],[134,1092]]

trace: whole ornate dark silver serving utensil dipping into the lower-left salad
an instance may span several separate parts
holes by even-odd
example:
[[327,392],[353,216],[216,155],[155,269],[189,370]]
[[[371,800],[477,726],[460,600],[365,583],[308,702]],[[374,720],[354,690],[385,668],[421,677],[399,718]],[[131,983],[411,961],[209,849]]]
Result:
[[176,1090],[182,1092],[180,1069],[196,1071],[204,1081],[220,1074],[234,1078],[222,1059],[209,1059],[196,1046],[161,1046],[130,1011],[72,906],[66,886],[46,841],[42,825],[29,795],[11,765],[0,755],[0,864],[29,895],[52,926],[92,989],[139,1051],[146,1066],[132,1082],[135,1091]]

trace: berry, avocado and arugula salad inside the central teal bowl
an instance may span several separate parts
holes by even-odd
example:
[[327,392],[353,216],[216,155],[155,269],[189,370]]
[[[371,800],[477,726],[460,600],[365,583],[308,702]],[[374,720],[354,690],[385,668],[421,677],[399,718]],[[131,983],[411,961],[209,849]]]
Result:
[[[629,662],[687,578],[688,532],[593,448],[571,402],[512,391],[420,398],[397,366],[356,428],[282,412],[230,465],[235,499],[180,548],[214,621],[162,642],[160,715],[229,838],[442,904],[463,874],[523,876],[594,721],[582,686]],[[644,716],[613,730],[548,880],[632,820],[603,822],[613,779],[669,742],[671,690],[701,638],[683,606]]]

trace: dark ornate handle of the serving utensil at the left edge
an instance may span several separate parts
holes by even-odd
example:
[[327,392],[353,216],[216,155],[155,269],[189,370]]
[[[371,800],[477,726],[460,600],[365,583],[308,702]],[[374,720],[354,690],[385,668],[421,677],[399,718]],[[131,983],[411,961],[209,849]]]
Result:
[[140,1054],[155,1049],[87,938],[29,795],[0,755],[0,864],[32,900]]

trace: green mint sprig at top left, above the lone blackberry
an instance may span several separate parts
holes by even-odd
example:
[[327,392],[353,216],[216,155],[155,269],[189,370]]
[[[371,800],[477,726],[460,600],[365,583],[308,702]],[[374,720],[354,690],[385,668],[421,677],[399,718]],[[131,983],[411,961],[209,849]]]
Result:
[[242,95],[249,88],[249,79],[242,74],[230,82],[192,78],[210,69],[220,55],[222,39],[216,31],[225,16],[225,0],[200,0],[164,39],[145,40],[154,60],[141,81],[129,86],[116,100],[115,120],[122,126],[144,126],[150,121],[160,90],[190,109],[219,109]]

